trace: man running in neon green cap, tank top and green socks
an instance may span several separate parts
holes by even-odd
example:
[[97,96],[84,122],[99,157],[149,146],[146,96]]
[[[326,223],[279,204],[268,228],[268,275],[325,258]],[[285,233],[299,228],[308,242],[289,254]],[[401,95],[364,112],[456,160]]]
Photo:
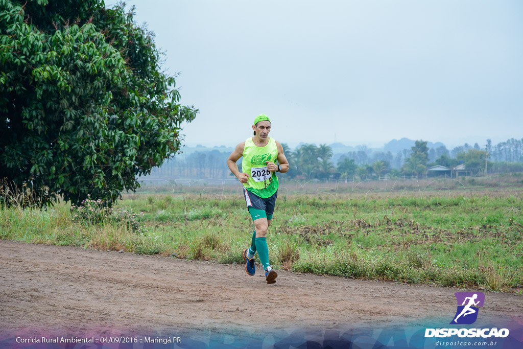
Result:
[[[251,214],[256,230],[253,232],[251,247],[243,251],[245,271],[254,275],[254,254],[258,252],[261,265],[265,269],[267,284],[274,284],[278,274],[269,263],[267,248],[267,228],[278,196],[278,177],[276,172],[289,171],[289,163],[283,154],[281,144],[270,138],[270,119],[260,114],[254,119],[254,137],[249,137],[238,145],[227,160],[231,172],[243,183],[243,194],[247,210]],[[242,172],[238,171],[236,161],[243,156]],[[276,164],[278,160],[279,165]]]

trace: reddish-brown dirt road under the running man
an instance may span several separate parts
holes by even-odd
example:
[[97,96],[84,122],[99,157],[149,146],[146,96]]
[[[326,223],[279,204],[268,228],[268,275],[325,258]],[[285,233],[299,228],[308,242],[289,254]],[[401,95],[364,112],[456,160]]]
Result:
[[[0,334],[215,331],[448,324],[457,289],[279,271],[267,285],[241,265],[0,240]],[[485,293],[481,319],[523,323],[523,297]]]

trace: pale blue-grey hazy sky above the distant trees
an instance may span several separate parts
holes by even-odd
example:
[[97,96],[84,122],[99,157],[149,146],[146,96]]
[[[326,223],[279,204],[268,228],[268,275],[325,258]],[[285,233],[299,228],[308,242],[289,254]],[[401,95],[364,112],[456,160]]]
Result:
[[291,145],[523,137],[520,0],[126,4],[200,109],[188,145],[241,142],[262,112]]

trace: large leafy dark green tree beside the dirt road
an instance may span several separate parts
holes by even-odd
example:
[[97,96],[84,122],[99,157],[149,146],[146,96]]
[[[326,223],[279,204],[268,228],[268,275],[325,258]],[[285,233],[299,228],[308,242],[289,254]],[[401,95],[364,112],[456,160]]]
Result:
[[51,202],[111,204],[180,148],[152,33],[99,0],[0,0],[0,179]]

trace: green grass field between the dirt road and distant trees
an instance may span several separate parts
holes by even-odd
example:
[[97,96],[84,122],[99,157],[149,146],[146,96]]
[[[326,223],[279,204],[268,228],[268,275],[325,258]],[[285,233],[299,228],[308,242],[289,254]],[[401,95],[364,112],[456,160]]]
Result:
[[[271,263],[521,294],[523,190],[520,176],[505,178],[287,183],[269,228]],[[79,214],[63,202],[47,210],[3,205],[0,238],[242,263],[254,229],[239,186],[149,185],[110,212],[94,201],[90,208]]]

